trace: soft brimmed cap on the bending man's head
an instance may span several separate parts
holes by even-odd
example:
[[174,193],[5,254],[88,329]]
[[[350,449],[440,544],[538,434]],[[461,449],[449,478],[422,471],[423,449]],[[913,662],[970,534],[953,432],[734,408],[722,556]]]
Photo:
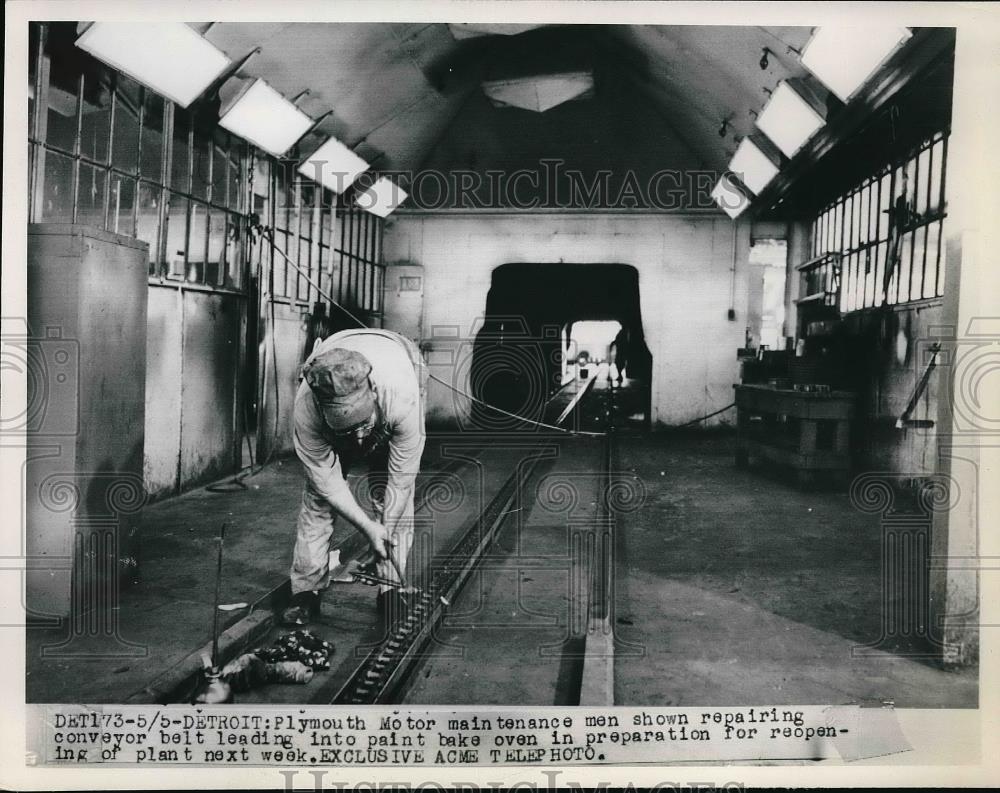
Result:
[[371,370],[361,353],[338,347],[306,362],[302,376],[331,429],[349,430],[371,417],[375,409],[375,392],[368,382]]

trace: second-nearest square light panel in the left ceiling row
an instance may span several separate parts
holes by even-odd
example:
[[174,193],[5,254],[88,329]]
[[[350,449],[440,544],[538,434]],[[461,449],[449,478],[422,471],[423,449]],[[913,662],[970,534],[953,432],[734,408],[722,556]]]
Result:
[[280,157],[306,134],[312,119],[263,80],[255,80],[219,119],[219,125]]

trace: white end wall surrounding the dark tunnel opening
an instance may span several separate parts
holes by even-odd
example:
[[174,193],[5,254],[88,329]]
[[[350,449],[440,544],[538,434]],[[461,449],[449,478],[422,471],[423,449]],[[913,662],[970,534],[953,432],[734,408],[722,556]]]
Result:
[[[739,378],[736,349],[746,329],[749,237],[747,224],[715,214],[399,213],[386,227],[385,260],[424,266],[425,339],[435,327],[440,336],[442,326],[457,326],[471,339],[483,316],[491,273],[502,264],[634,266],[653,355],[652,420],[676,425],[733,400],[732,386]],[[731,300],[735,321],[727,318]],[[460,366],[449,363],[456,343],[438,339],[432,346],[431,371],[452,381]],[[467,388],[468,366],[461,369],[457,384]],[[461,410],[461,400],[458,404]],[[429,418],[448,420],[455,414],[455,399],[432,382]],[[706,424],[732,421],[730,411]]]

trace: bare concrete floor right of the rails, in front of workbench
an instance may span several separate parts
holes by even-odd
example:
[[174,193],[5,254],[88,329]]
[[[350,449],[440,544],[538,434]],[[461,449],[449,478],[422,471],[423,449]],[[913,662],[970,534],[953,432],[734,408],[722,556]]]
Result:
[[882,635],[878,517],[737,469],[733,441],[620,439],[646,500],[618,520],[615,702],[975,707],[976,669],[943,671],[914,642],[866,651]]

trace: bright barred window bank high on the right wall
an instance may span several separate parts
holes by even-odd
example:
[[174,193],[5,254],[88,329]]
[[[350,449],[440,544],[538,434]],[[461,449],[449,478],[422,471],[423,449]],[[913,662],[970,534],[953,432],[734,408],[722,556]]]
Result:
[[820,212],[812,252],[840,254],[842,312],[943,294],[947,160],[942,131]]

